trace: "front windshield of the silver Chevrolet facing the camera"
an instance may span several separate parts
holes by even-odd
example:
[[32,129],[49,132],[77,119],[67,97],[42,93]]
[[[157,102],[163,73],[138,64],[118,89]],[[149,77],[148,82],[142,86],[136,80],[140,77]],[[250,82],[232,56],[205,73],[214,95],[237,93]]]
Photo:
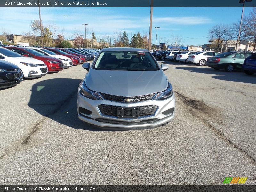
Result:
[[148,52],[113,51],[101,52],[93,69],[156,71],[157,63]]

